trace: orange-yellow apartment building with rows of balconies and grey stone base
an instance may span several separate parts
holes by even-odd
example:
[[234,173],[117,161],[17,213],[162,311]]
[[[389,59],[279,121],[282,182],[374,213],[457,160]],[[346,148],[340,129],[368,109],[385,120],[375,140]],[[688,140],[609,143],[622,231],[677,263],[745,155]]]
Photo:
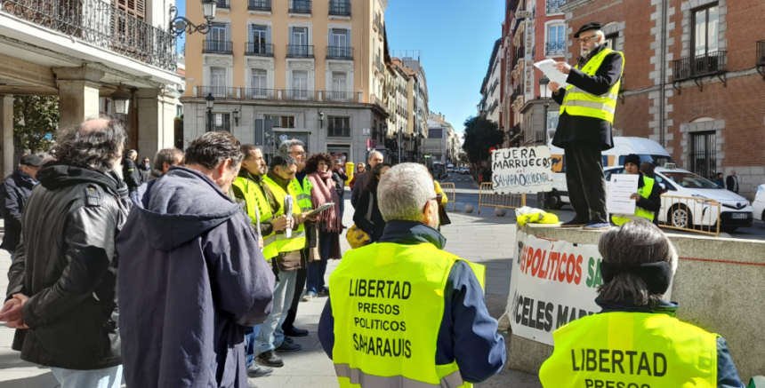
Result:
[[366,160],[372,146],[387,153],[387,6],[387,0],[219,0],[211,31],[187,40],[184,141],[229,131],[262,146],[267,157],[286,139],[344,162]]

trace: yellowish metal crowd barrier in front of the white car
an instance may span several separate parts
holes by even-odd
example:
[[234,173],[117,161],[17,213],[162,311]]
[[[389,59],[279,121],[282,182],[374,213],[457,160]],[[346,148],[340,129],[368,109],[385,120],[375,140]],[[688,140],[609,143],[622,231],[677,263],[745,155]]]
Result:
[[720,237],[720,202],[694,197],[662,195],[662,208],[667,229],[709,234]]

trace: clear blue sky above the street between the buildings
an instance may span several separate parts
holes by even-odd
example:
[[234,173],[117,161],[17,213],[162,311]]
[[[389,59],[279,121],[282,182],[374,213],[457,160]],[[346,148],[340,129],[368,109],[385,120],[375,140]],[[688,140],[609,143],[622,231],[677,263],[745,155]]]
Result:
[[[201,7],[197,0],[190,1]],[[177,6],[178,14],[185,15],[186,0]],[[463,131],[465,120],[476,114],[480,85],[494,43],[502,35],[503,19],[500,0],[389,0],[385,25],[391,50],[423,51],[429,107],[446,115],[457,131]],[[185,36],[178,41],[179,50]]]

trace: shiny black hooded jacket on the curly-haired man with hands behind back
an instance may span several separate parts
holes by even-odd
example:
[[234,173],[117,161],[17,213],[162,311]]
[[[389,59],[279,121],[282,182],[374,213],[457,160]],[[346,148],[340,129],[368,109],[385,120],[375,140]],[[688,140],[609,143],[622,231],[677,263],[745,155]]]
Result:
[[37,173],[6,293],[29,297],[17,330],[21,359],[68,369],[122,363],[117,329],[115,240],[128,212],[127,187],[109,175],[66,165]]

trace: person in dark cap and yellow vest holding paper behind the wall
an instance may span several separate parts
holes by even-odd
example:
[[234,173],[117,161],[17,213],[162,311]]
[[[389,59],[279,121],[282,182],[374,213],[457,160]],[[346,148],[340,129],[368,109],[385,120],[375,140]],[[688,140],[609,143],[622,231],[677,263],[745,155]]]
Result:
[[[662,187],[656,183],[656,179],[648,178],[640,171],[640,156],[628,154],[624,157],[624,173],[627,175],[640,175],[638,178],[638,192],[632,194],[630,199],[635,200],[635,214],[632,218],[646,218],[654,222],[656,211],[662,207]],[[618,175],[612,175],[612,179]],[[631,218],[611,216],[614,224],[624,225]]]

